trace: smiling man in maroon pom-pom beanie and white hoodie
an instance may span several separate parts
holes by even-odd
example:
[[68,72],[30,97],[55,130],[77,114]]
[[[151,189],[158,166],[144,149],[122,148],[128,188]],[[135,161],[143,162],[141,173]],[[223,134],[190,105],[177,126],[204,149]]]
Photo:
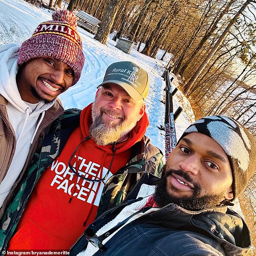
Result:
[[73,13],[57,10],[21,47],[0,46],[0,218],[64,113],[57,97],[80,78],[84,54],[76,27]]

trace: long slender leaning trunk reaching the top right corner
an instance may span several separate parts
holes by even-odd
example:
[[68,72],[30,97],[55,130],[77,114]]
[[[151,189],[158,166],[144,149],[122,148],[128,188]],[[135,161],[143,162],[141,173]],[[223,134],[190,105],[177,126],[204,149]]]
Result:
[[252,3],[254,0],[247,0],[243,6],[240,8],[240,10],[236,13],[236,15],[233,17],[233,19],[231,19],[231,21],[229,22],[229,25],[227,25],[227,27],[225,28],[225,30],[223,31],[222,35],[220,36],[220,38],[218,39],[218,41],[216,42],[216,44],[214,45],[214,47],[212,48],[212,50],[209,52],[208,56],[206,57],[206,59],[203,61],[203,63],[200,65],[200,67],[197,69],[197,71],[195,72],[195,74],[192,76],[192,78],[189,80],[189,82],[186,84],[186,86],[184,87],[184,91],[187,92],[188,90],[191,90],[193,84],[195,83],[195,81],[197,80],[197,78],[201,75],[202,71],[204,70],[204,68],[206,67],[206,65],[210,62],[210,60],[212,59],[213,55],[215,54],[215,52],[218,50],[218,47],[220,46],[220,44],[223,42],[223,40],[225,39],[225,37],[227,36],[227,34],[229,33],[229,30],[231,29],[231,27],[234,25],[234,23],[237,21],[237,19],[239,18],[239,16],[241,15],[241,13],[245,10],[245,8]]

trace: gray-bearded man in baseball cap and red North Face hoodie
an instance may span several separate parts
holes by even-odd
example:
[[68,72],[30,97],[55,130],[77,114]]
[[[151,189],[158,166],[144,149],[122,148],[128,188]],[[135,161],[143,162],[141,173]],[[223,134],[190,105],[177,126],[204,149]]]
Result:
[[[48,164],[19,224],[9,228],[9,250],[69,250],[96,217],[125,200],[138,180],[147,180],[149,170],[159,174],[164,159],[145,136],[148,92],[148,74],[135,63],[107,68],[79,122],[72,117],[46,138],[52,161],[41,161]],[[55,147],[49,150],[48,141]]]

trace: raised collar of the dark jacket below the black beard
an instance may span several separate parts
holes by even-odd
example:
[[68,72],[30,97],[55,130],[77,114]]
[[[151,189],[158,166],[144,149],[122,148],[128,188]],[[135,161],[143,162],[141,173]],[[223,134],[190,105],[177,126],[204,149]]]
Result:
[[176,204],[169,204],[158,211],[149,213],[147,218],[150,223],[161,222],[170,229],[208,234],[224,245],[227,254],[233,250],[241,253],[251,246],[250,231],[246,223],[239,214],[227,207],[193,212]]

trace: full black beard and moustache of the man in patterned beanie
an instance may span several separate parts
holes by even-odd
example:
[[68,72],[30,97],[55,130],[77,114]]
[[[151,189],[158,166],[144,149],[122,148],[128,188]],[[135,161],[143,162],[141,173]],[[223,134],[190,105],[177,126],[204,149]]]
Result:
[[166,174],[165,174],[165,166],[162,168],[162,176],[157,184],[155,189],[154,199],[158,207],[162,208],[168,204],[176,204],[186,210],[189,211],[200,211],[206,208],[215,208],[217,206],[221,206],[223,193],[215,194],[215,195],[204,195],[199,196],[201,187],[193,182],[193,180],[189,177],[189,175],[182,170],[168,170],[167,176],[171,173],[176,173],[183,178],[186,178],[187,181],[193,183],[195,187],[195,191],[191,197],[176,197],[170,195],[166,190]]

